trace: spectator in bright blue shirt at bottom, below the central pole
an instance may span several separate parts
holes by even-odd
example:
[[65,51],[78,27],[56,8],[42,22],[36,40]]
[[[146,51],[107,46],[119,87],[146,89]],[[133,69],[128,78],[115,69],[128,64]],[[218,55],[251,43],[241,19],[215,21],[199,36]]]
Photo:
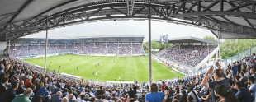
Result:
[[150,86],[150,93],[145,95],[145,102],[159,102],[164,100],[164,93],[158,92],[158,86],[152,83]]

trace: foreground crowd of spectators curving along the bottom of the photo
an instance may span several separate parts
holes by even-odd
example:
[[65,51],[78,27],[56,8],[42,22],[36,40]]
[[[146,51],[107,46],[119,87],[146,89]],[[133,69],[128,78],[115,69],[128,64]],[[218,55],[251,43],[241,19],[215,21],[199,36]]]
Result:
[[107,87],[35,72],[16,58],[0,58],[1,102],[253,102],[256,55],[227,67],[216,62],[197,76],[145,86]]

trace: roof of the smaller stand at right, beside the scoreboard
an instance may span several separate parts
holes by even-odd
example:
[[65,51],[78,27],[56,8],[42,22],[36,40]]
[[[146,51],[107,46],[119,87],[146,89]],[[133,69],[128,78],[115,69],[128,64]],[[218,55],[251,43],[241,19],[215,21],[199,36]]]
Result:
[[208,43],[208,44],[217,44],[218,42],[188,36],[188,37],[168,39],[168,43]]

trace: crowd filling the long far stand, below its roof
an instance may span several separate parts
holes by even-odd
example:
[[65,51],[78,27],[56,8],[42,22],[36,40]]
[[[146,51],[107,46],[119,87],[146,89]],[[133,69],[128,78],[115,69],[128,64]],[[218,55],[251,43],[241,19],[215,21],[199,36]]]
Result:
[[[12,57],[33,58],[38,55],[44,55],[45,46],[12,46],[9,52]],[[144,54],[144,50],[142,49],[142,44],[56,44],[49,45],[47,53],[132,55]]]

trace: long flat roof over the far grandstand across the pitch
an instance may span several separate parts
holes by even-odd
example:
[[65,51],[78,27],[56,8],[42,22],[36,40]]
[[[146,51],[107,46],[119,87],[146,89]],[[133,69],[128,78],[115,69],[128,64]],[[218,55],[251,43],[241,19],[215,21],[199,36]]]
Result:
[[[50,44],[83,44],[83,43],[143,43],[144,36],[123,35],[123,36],[94,36],[77,39],[48,39]],[[41,44],[45,43],[42,38],[19,38],[11,40],[11,44]]]

